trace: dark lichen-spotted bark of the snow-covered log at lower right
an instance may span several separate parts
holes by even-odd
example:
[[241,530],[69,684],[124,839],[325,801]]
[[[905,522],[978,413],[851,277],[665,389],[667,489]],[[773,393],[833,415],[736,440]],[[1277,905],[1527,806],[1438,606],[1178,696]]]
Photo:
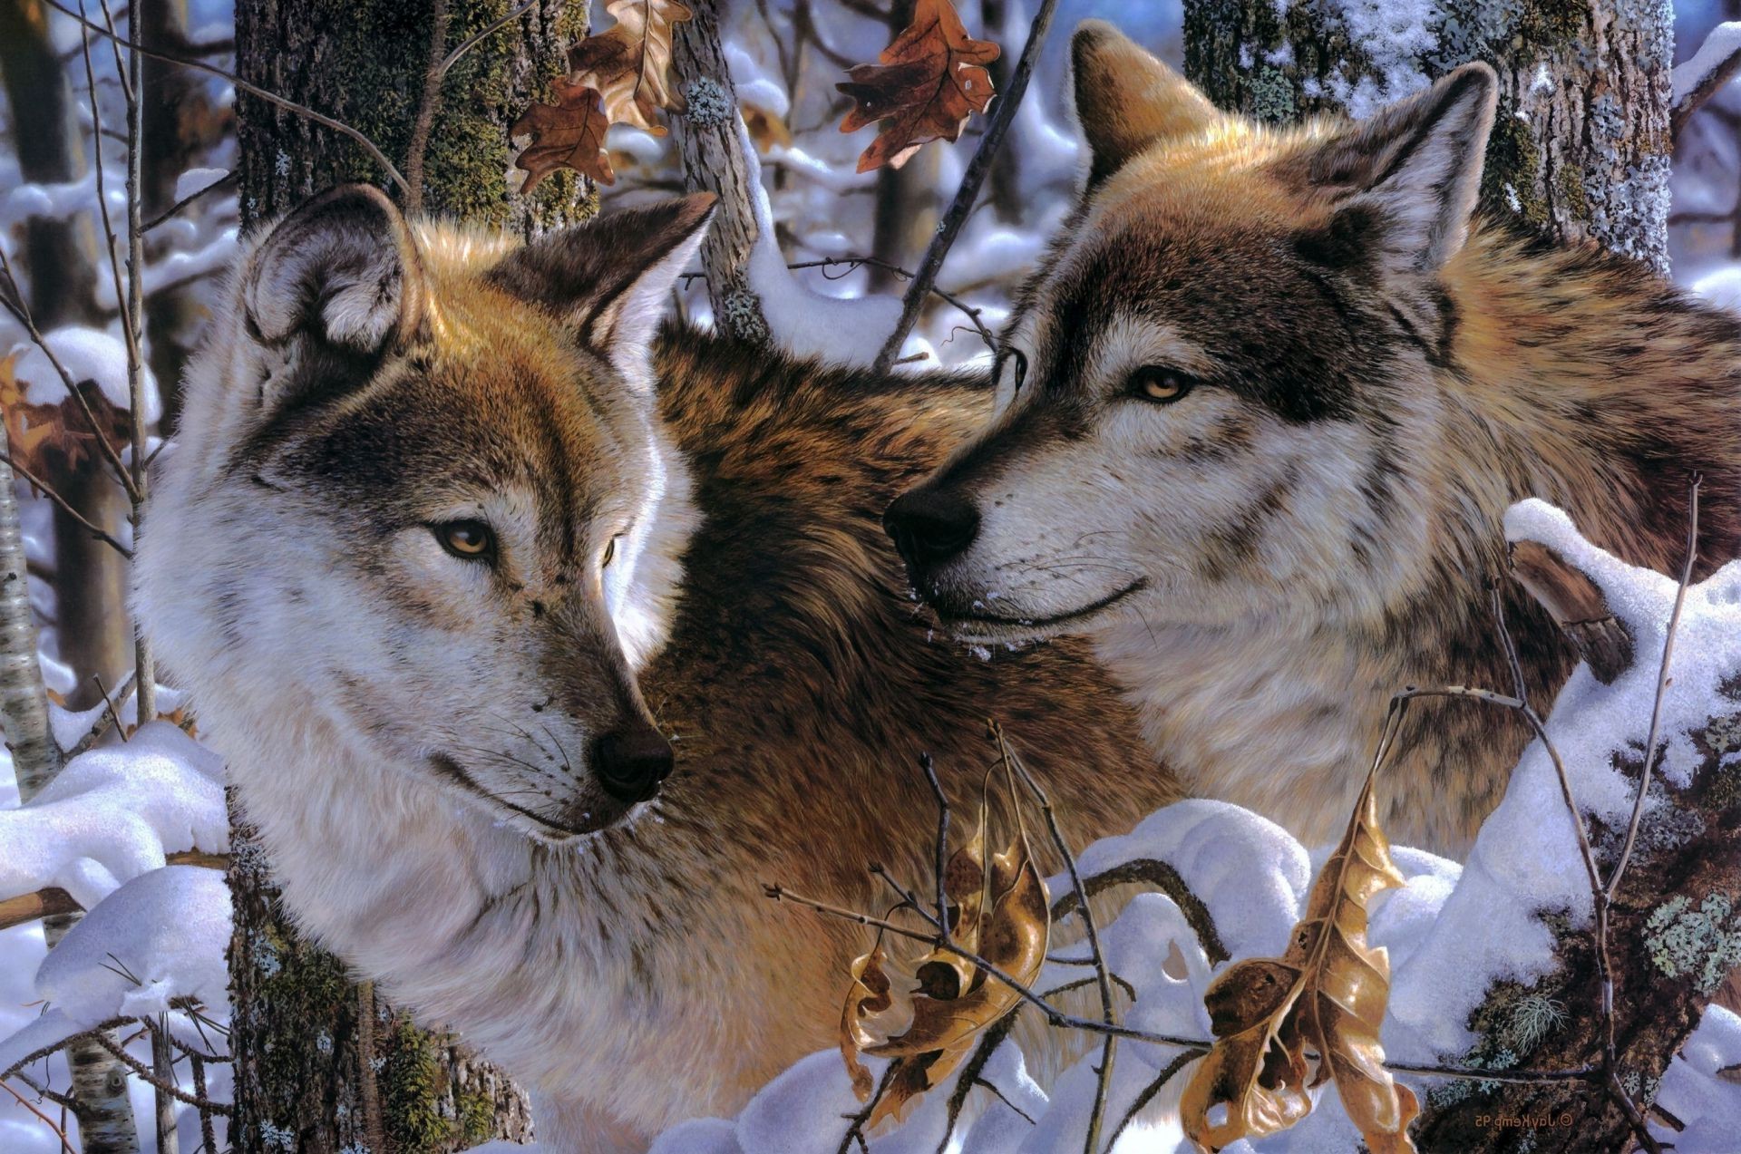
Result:
[[[1612,660],[1621,651],[1614,630],[1624,628],[1600,592],[1598,604],[1590,604],[1595,583],[1549,550],[1537,550],[1525,564],[1530,592],[1556,616],[1576,606],[1590,614],[1588,623],[1612,625],[1598,634],[1576,623],[1567,628],[1593,661]],[[1567,590],[1574,590],[1570,597]],[[1623,649],[1631,654],[1630,637]],[[1718,698],[1722,708],[1689,733],[1701,755],[1691,787],[1670,790],[1652,783],[1656,806],[1645,813],[1609,910],[1619,1081],[1645,1116],[1668,1063],[1741,961],[1741,919],[1734,914],[1741,909],[1741,775],[1724,764],[1741,748],[1741,674],[1718,688]],[[1659,755],[1657,768],[1661,761]],[[1642,748],[1617,754],[1614,766],[1637,787]],[[1626,829],[1591,822],[1590,834],[1605,879]],[[1555,931],[1558,971],[1530,987],[1496,983],[1469,1022],[1480,1041],[1461,1058],[1464,1065],[1496,1070],[1600,1065],[1605,1027],[1595,1011],[1602,985],[1591,933],[1551,910],[1543,917]],[[1424,1107],[1412,1131],[1421,1151],[1546,1154],[1624,1151],[1633,1142],[1619,1107],[1595,1083],[1459,1081],[1435,1088]]]

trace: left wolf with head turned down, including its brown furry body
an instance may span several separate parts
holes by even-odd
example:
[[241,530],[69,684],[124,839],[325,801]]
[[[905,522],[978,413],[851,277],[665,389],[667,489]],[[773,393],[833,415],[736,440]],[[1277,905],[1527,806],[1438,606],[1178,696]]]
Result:
[[[888,501],[989,416],[658,336],[705,195],[526,245],[346,186],[263,228],[185,381],[136,607],[320,943],[644,1149],[830,1048],[860,926],[921,891],[935,757],[996,717],[1078,844],[1177,799],[1085,644],[931,642]],[[961,829],[961,823],[958,823]]]

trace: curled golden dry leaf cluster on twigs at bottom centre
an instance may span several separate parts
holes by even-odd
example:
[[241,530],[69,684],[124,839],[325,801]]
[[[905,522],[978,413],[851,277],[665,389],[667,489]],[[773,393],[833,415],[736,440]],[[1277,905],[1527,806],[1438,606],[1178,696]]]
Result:
[[[1046,961],[1052,928],[1046,882],[1034,865],[1025,830],[1018,830],[1010,848],[992,853],[987,862],[985,823],[987,808],[980,801],[978,829],[951,855],[944,869],[951,940],[1029,985]],[[876,1025],[876,1018],[884,1015],[884,1020],[898,1016],[884,971],[886,961],[877,938],[876,947],[853,963],[853,987],[841,1015],[841,1055],[860,1102],[869,1100],[872,1079],[858,1055],[895,1062],[890,1084],[870,1114],[870,1126],[884,1117],[898,1119],[916,1098],[956,1069],[980,1030],[1020,1001],[1020,994],[1010,985],[989,976],[961,954],[935,949],[914,968],[918,989],[907,999],[912,1011],[907,1029],[877,1041],[865,1027]]]

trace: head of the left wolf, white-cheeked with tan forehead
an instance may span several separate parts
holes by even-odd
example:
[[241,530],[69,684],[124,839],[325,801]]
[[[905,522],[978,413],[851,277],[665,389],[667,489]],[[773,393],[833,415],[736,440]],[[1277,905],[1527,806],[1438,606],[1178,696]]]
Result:
[[348,186],[245,256],[141,540],[141,620],[219,743],[312,710],[550,839],[653,795],[672,750],[634,668],[686,505],[649,339],[710,205],[508,251]]

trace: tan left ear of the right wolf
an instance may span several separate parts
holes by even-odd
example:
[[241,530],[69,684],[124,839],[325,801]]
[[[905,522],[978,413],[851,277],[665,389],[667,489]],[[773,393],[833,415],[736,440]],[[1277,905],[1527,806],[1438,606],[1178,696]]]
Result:
[[1158,141],[1222,122],[1203,92],[1106,21],[1071,37],[1076,120],[1088,141],[1088,190]]

